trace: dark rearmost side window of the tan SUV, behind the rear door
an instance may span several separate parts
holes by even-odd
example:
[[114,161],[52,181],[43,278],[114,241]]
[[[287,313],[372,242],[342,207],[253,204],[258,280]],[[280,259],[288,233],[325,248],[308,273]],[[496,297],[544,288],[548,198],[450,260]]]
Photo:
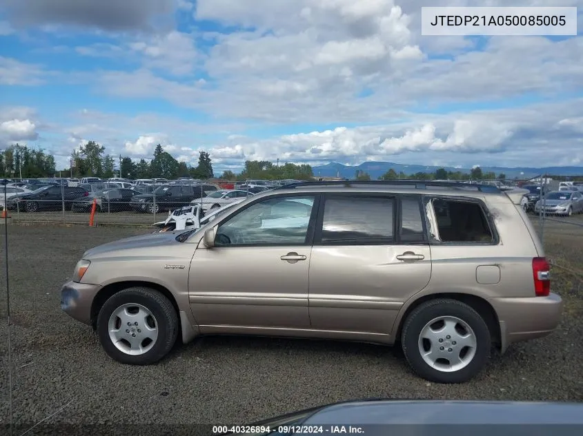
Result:
[[494,242],[479,203],[436,198],[432,201],[437,235],[442,242]]

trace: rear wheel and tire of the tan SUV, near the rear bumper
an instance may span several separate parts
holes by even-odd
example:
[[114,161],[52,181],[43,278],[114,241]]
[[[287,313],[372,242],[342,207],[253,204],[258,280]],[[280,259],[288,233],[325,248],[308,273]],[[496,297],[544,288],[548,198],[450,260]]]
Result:
[[[431,360],[431,355],[427,357],[422,355],[422,350],[426,351],[427,349],[428,340],[422,340],[421,335],[424,332],[428,332],[428,335],[432,336],[431,328],[428,326],[435,323],[439,318],[445,318],[450,325],[452,323],[455,324],[457,321],[460,322],[455,325],[456,329],[433,333],[435,341],[429,341],[431,342],[430,349],[435,350],[438,357],[444,356],[445,359],[448,359],[449,356],[461,356],[462,364],[460,364],[459,369],[442,365],[445,360],[440,358],[436,358],[433,366],[431,366],[426,362],[426,359]],[[464,339],[459,335],[458,328],[462,323],[469,327],[469,330],[465,329],[466,333],[470,333],[470,336],[467,337],[469,339]],[[435,329],[436,326],[439,327],[439,324],[433,324],[432,326]],[[451,338],[447,337],[446,333],[448,332],[453,332],[453,335],[450,335]],[[472,336],[473,346],[460,347],[460,344],[455,343],[457,341],[454,340],[454,338],[460,338],[460,342],[462,340],[472,342]],[[443,345],[439,345],[438,338],[443,340],[441,342]],[[457,300],[440,298],[420,304],[408,315],[403,326],[401,341],[407,362],[417,375],[436,383],[463,383],[480,373],[488,362],[492,339],[484,319],[468,304]],[[444,351],[439,349],[441,346],[444,347]],[[448,353],[448,350],[453,350],[451,351],[452,354]]]

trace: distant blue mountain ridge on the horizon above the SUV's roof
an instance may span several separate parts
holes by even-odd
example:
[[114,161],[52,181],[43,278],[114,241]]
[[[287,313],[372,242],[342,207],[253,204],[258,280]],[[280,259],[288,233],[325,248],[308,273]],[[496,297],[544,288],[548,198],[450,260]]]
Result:
[[[358,170],[364,171],[370,175],[370,178],[377,179],[379,176],[385,174],[389,169],[393,168],[395,172],[404,172],[407,176],[418,172],[433,173],[436,169],[444,168],[447,171],[461,171],[469,173],[471,168],[456,168],[456,167],[435,167],[433,165],[404,165],[402,163],[393,162],[364,162],[360,165],[344,165],[342,163],[331,162],[326,165],[312,167],[314,176],[354,178]],[[504,173],[506,178],[531,178],[539,176],[540,174],[553,174],[556,176],[583,176],[583,167],[481,167],[482,172],[494,172],[496,175]]]

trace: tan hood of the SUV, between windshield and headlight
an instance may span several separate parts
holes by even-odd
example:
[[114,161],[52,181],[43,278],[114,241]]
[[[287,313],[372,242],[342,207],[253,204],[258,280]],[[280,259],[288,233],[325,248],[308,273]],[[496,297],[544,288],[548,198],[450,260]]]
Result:
[[[91,260],[91,258],[101,257],[103,255],[110,256],[112,253],[118,251],[128,253],[135,251],[137,255],[143,255],[145,249],[172,249],[172,245],[180,244],[176,237],[184,233],[184,230],[165,232],[165,233],[148,233],[146,235],[133,236],[132,238],[120,239],[107,244],[98,245],[83,253],[83,259]],[[157,250],[158,256],[160,251]]]

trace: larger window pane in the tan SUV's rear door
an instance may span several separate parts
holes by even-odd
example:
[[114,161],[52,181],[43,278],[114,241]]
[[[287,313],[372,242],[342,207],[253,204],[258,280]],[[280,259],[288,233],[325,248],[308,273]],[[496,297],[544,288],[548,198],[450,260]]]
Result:
[[395,199],[392,197],[328,196],[322,218],[322,243],[393,243],[394,210]]

